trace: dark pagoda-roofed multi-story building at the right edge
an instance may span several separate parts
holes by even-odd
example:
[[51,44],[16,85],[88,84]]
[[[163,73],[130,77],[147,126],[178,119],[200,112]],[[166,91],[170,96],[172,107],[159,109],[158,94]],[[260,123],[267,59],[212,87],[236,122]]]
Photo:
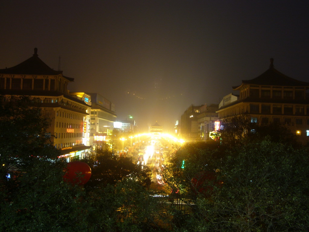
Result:
[[277,71],[270,59],[267,71],[251,80],[233,87],[239,99],[222,105],[219,118],[249,114],[251,122],[285,125],[298,141],[309,141],[309,83],[290,78]]

